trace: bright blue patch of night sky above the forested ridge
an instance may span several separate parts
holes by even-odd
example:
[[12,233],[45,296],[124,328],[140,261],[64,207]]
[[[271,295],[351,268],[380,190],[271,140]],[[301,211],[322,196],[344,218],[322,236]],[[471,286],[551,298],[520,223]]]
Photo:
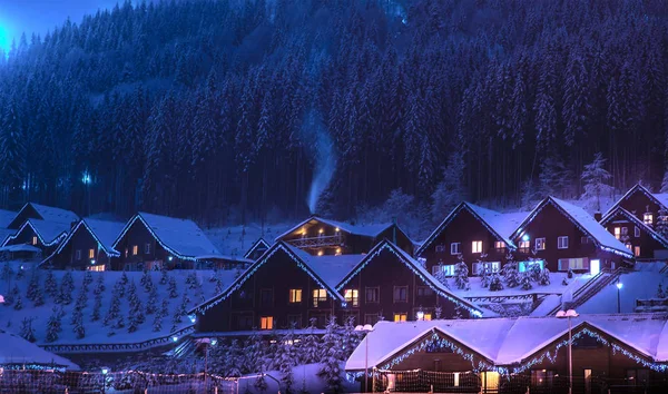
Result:
[[0,47],[8,49],[12,37],[17,41],[21,32],[26,36],[45,35],[68,17],[79,22],[87,13],[99,8],[110,8],[117,0],[0,0]]

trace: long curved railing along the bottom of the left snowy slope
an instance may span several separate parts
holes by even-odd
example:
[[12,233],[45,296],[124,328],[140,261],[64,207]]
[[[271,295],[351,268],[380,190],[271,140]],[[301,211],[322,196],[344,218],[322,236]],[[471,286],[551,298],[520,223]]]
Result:
[[[138,352],[153,347],[175,344],[178,338],[187,336],[195,332],[195,326],[188,326],[176,331],[169,335],[153,338],[144,342],[129,344],[67,344],[67,345],[40,345],[41,348],[56,354],[66,353],[120,353],[120,352]],[[174,341],[174,337],[177,341]]]

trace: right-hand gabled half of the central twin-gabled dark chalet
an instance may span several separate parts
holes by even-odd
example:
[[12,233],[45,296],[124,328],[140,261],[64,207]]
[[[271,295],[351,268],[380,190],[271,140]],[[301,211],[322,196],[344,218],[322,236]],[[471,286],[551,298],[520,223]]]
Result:
[[[317,258],[315,258],[317,259]],[[384,239],[340,280],[336,290],[356,324],[375,324],[482,315],[475,305],[453,295],[418,260]]]

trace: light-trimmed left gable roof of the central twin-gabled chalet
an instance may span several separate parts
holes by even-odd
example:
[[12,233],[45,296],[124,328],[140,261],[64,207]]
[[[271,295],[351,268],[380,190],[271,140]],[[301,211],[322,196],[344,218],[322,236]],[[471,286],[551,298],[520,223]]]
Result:
[[[246,283],[246,280],[248,280],[253,275],[255,275],[255,273],[257,272],[257,269],[259,267],[265,265],[278,252],[283,252],[283,253],[287,254],[287,256],[291,257],[293,259],[293,262],[295,262],[297,267],[299,267],[308,276],[311,276],[311,278],[313,280],[315,280],[315,283],[317,283],[320,286],[322,286],[324,289],[326,289],[327,294],[330,294],[330,296],[332,298],[335,298],[340,302],[344,301],[343,296],[341,296],[341,294],[338,294],[336,292],[336,289],[327,280],[324,280],[317,274],[316,269],[314,269],[314,267],[311,266],[311,264],[310,264],[311,259],[304,259],[304,257],[306,257],[306,256],[311,257],[311,255],[308,255],[307,253],[305,253],[298,248],[291,247],[289,245],[287,245],[284,242],[277,242],[267,252],[265,252],[265,254],[262,255],[261,258],[258,258],[255,263],[253,263],[250,265],[250,267],[248,267],[248,269],[246,269],[238,278],[236,278],[232,283],[232,285],[229,285],[223,293],[197,305],[196,307],[190,309],[189,313],[204,313],[206,309],[227,299],[235,290],[239,289],[244,285],[244,283]],[[304,256],[304,255],[306,255],[306,256]]]

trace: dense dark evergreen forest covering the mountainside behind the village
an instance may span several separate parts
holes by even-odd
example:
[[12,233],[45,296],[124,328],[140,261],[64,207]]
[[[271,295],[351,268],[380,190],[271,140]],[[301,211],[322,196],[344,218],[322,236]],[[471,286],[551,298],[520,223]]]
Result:
[[[0,206],[209,224],[665,169],[665,0],[117,6],[0,56]],[[330,179],[331,178],[331,179]],[[448,199],[448,198],[445,198]],[[315,205],[315,196],[311,205]]]

